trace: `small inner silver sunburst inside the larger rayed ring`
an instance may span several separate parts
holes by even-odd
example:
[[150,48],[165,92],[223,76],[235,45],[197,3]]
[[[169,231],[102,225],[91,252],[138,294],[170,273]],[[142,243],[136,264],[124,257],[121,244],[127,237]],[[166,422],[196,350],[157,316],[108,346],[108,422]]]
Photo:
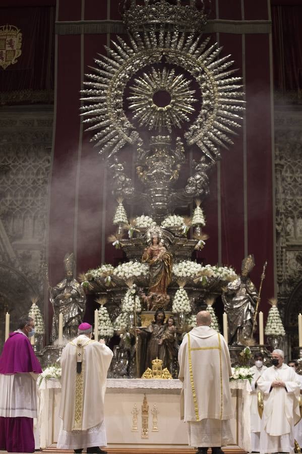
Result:
[[[189,122],[189,115],[194,112],[193,97],[195,90],[190,90],[191,81],[184,74],[175,75],[175,70],[155,70],[144,73],[135,79],[130,87],[132,96],[129,108],[135,112],[140,126],[148,125],[148,129],[167,128],[171,132],[172,126],[180,128],[184,121]],[[167,94],[166,105],[158,105],[154,95],[163,92]]]

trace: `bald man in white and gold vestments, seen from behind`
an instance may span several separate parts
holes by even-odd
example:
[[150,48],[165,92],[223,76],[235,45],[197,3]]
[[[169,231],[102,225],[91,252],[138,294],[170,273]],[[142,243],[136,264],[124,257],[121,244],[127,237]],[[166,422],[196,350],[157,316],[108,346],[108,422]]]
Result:
[[207,454],[208,447],[221,454],[221,446],[234,443],[230,357],[224,338],[210,328],[209,312],[199,312],[196,321],[178,353],[182,419],[188,423],[189,445],[197,446],[198,454]]

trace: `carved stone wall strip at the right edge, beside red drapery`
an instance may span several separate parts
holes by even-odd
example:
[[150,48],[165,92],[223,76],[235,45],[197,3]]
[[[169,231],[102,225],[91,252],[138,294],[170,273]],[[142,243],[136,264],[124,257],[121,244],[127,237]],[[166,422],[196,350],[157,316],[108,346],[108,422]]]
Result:
[[297,357],[302,312],[302,107],[275,108],[278,300],[288,354]]

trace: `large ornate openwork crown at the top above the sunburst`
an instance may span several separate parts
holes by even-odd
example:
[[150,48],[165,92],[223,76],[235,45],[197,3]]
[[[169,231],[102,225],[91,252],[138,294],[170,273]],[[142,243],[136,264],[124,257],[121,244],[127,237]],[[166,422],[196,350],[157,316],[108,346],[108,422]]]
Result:
[[204,0],[190,0],[190,5],[182,5],[181,0],[176,0],[176,5],[168,0],[144,0],[143,5],[137,5],[136,0],[120,0],[119,5],[131,32],[178,29],[191,33],[201,31],[208,18]]

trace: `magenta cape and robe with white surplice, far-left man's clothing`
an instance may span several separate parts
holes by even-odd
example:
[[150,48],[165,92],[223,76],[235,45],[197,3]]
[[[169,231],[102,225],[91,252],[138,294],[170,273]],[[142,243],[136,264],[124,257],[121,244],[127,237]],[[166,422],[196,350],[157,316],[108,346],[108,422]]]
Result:
[[10,333],[0,357],[0,450],[33,452],[37,374],[42,372],[28,337]]

